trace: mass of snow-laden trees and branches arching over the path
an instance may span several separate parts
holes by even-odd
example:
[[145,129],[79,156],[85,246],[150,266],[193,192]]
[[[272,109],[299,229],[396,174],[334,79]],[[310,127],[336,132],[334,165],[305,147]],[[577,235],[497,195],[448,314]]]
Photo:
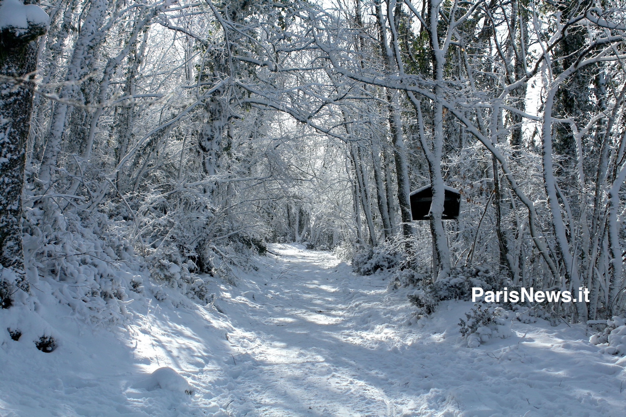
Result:
[[[45,32],[24,43],[36,71],[3,58],[0,74],[6,100],[28,102],[0,123],[31,120],[3,145],[21,162],[0,167],[15,184],[0,259],[33,276],[0,279],[3,304],[120,247],[185,287],[295,241],[396,257],[433,285],[480,265],[496,287],[588,287],[588,302],[548,306],[567,321],[626,310],[622,1],[2,7],[4,41],[25,10]],[[415,223],[409,195],[426,185]],[[446,187],[458,221],[441,221]],[[124,292],[94,276],[69,297]]]

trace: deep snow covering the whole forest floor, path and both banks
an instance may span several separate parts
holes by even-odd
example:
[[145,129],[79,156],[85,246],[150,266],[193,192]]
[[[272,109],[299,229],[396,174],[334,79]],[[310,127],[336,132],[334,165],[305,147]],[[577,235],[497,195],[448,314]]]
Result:
[[[470,349],[457,325],[470,302],[416,321],[411,290],[384,274],[301,245],[270,250],[280,256],[236,287],[216,283],[212,305],[138,301],[125,327],[93,330],[44,297],[40,322],[0,339],[0,415],[626,415],[626,359],[582,325],[514,321],[513,337]],[[0,310],[0,324],[33,314]],[[38,351],[29,327],[58,348]]]

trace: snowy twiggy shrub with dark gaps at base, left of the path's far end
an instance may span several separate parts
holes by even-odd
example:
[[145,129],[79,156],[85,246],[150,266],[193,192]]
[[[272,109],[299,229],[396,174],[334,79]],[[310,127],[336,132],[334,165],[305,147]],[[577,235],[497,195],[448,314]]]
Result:
[[[188,175],[192,183],[207,181],[202,173]],[[160,269],[155,262],[161,258],[182,270],[187,264],[192,274],[218,275],[234,284],[236,274],[229,265],[254,269],[252,255],[265,254],[264,242],[271,234],[259,213],[248,206],[233,210],[217,204],[217,194],[207,193],[205,187],[182,185],[174,178],[158,178],[158,182],[161,193],[155,195],[148,187],[133,198],[136,210],[144,214],[146,225],[141,233],[151,270]],[[173,277],[167,270],[163,272],[165,279]],[[185,275],[181,272],[183,278]],[[178,277],[174,279],[178,281]]]

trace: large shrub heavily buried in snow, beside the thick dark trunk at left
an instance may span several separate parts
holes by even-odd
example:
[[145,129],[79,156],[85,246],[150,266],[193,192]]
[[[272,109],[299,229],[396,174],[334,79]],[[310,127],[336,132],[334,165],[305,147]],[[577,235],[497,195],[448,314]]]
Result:
[[131,282],[141,281],[147,271],[128,239],[126,222],[96,211],[85,217],[61,213],[49,201],[26,200],[24,252],[27,270],[34,272],[31,284],[46,282],[51,294],[86,322],[128,319],[126,304],[138,297],[136,292],[129,296]]

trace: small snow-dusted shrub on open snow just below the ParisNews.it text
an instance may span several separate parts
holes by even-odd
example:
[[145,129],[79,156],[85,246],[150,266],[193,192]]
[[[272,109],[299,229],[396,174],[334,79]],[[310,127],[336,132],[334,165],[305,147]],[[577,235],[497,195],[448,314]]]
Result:
[[[495,337],[510,337],[510,322],[507,323],[509,312],[502,307],[486,307],[476,303],[475,307],[465,313],[467,321],[460,319],[459,332],[466,339],[468,348],[477,348],[481,343]],[[508,324],[508,325],[507,325]]]

